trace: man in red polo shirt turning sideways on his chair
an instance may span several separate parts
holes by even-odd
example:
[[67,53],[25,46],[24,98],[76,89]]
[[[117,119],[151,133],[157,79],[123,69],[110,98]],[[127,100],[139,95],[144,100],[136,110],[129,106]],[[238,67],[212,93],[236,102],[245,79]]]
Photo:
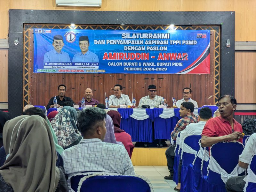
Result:
[[202,132],[201,146],[210,147],[223,141],[239,141],[243,143],[242,125],[233,118],[236,110],[236,99],[231,95],[219,98],[220,116],[206,122]]

